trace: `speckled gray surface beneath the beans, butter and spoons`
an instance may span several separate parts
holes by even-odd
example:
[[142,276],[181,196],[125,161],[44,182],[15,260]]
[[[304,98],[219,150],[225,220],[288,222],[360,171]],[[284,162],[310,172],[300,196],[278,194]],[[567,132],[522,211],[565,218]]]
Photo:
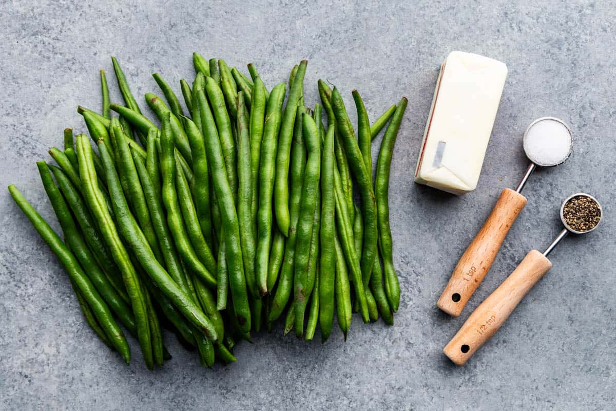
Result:
[[[87,328],[65,272],[3,191],[0,409],[614,409],[616,5],[452,3],[2,1],[0,186],[17,184],[55,228],[34,161],[62,144],[63,128],[85,129],[75,107],[99,109],[100,68],[120,99],[111,54],[137,97],[158,92],[156,71],[192,79],[191,53],[200,51],[238,67],[253,61],[269,87],[307,58],[310,104],[318,78],[346,91],[351,107],[359,89],[372,118],[402,95],[409,104],[390,188],[400,311],[394,327],[355,316],[346,343],[340,333],[304,343],[277,327],[212,371],[168,335],[174,359],[164,368],[148,372],[134,340],[126,367]],[[439,63],[456,49],[509,67],[479,187],[460,198],[412,181]],[[492,271],[450,319],[436,300],[500,190],[524,172],[522,132],[545,115],[570,124],[573,157],[533,174]],[[562,199],[582,190],[602,202],[602,226],[567,238],[495,338],[466,367],[452,365],[444,345],[528,250],[548,245]]]

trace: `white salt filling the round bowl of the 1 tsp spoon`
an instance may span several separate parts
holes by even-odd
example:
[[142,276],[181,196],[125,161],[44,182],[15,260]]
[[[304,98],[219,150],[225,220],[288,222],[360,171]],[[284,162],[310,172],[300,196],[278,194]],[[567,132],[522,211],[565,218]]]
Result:
[[567,126],[550,118],[537,121],[524,136],[524,152],[540,166],[556,166],[567,160],[572,144]]

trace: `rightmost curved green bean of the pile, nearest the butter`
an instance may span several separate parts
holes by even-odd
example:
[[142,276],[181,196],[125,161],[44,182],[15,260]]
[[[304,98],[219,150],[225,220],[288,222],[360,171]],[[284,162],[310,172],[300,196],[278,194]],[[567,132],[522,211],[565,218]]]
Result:
[[407,98],[402,97],[392,116],[391,123],[381,142],[379,157],[376,161],[375,191],[378,198],[379,248],[383,256],[383,269],[385,272],[385,293],[392,311],[397,312],[400,305],[400,283],[395,274],[392,258],[391,229],[389,228],[389,169],[391,156],[394,152],[395,138],[400,129],[400,123],[407,108]]

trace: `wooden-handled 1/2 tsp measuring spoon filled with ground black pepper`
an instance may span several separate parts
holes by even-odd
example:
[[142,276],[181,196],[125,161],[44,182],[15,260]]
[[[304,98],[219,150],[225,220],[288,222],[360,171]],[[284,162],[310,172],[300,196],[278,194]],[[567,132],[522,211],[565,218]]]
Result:
[[543,253],[531,250],[514,272],[477,307],[464,322],[443,352],[453,362],[464,365],[485,341],[500,328],[530,288],[552,267],[547,258],[550,251],[569,234],[584,234],[594,230],[602,217],[599,201],[585,193],[573,194],[561,206],[565,228]]

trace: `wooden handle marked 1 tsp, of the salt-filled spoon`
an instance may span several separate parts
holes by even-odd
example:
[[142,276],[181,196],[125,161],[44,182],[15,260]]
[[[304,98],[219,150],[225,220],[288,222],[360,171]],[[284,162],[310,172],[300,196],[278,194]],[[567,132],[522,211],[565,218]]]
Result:
[[525,205],[526,197],[522,194],[511,189],[501,192],[492,213],[453,270],[436,304],[440,309],[454,317],[460,315],[492,266],[505,236]]

